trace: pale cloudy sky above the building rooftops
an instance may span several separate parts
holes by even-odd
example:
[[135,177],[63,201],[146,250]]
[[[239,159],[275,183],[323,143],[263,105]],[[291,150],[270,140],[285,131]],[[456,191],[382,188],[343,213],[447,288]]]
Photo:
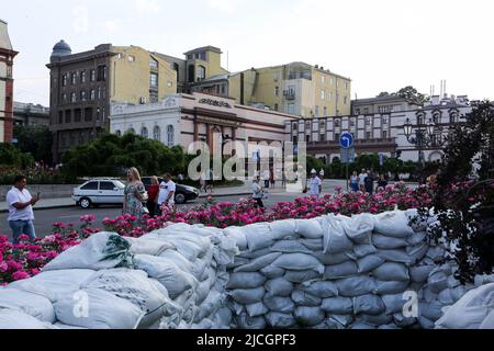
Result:
[[15,101],[49,104],[59,39],[72,53],[111,43],[181,58],[213,45],[231,71],[305,61],[351,78],[352,99],[405,86],[438,94],[447,80],[450,94],[494,100],[492,0],[3,1]]

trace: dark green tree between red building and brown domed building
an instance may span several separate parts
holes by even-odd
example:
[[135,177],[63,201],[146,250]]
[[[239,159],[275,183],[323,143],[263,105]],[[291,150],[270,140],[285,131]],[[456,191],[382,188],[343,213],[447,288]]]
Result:
[[31,154],[35,161],[52,163],[53,137],[47,126],[14,126],[13,135],[22,152]]

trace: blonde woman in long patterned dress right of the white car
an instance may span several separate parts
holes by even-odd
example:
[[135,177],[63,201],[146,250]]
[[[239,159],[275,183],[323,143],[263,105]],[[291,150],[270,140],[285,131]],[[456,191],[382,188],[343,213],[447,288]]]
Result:
[[137,225],[145,214],[149,214],[149,210],[144,205],[148,200],[146,188],[144,186],[139,171],[132,167],[127,171],[127,185],[124,190],[124,203],[122,214],[131,215],[137,218]]

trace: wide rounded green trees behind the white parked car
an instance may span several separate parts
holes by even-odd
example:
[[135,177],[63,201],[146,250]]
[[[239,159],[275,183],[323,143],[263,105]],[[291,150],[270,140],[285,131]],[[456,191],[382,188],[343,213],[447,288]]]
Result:
[[186,169],[181,147],[167,147],[134,134],[104,135],[64,156],[63,172],[71,177],[120,177],[136,167],[142,176],[178,173]]

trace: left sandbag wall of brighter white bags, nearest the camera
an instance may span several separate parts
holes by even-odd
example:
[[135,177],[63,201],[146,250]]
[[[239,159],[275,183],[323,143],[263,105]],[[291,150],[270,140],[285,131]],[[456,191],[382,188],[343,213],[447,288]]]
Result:
[[173,225],[139,239],[100,233],[0,290],[0,329],[228,328],[221,230]]

